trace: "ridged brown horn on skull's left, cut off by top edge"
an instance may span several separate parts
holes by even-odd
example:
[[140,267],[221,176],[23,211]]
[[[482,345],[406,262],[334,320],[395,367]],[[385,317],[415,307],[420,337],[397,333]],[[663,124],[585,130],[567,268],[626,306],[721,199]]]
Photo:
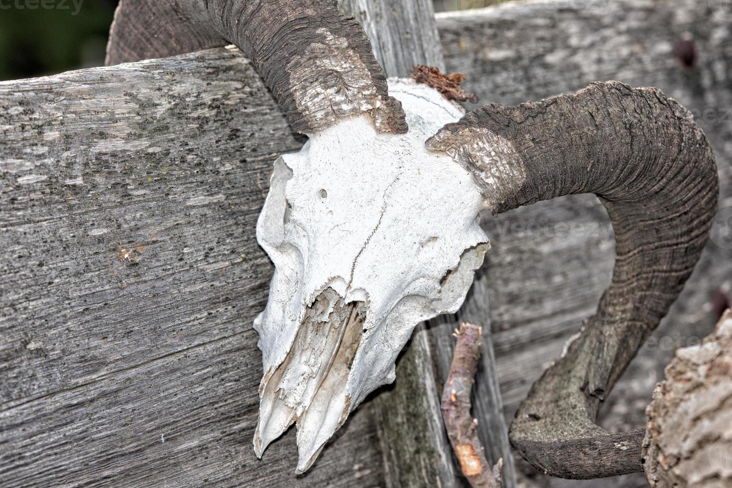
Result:
[[366,34],[335,0],[122,0],[106,62],[228,42],[252,61],[297,132],[313,134],[366,111],[380,132],[407,130]]

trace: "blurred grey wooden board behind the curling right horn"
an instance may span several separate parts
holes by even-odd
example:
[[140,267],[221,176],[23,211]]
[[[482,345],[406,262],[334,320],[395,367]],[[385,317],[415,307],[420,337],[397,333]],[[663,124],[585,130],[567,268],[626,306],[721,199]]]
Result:
[[[539,100],[593,80],[658,86],[698,116],[717,155],[720,209],[732,205],[732,25],[720,4],[534,1],[437,19],[447,70],[466,73],[466,90],[481,103]],[[679,56],[679,48],[688,53],[690,46],[692,67],[684,64],[689,56]],[[601,412],[608,429],[642,426],[673,350],[712,330],[712,296],[731,285],[731,250],[714,244],[729,231],[725,225],[717,222],[681,298],[610,396]],[[488,219],[486,228],[493,244],[487,274],[498,377],[512,418],[531,383],[594,311],[610,279],[613,238],[605,212],[589,196],[512,211]],[[643,484],[642,476],[536,481],[546,487]]]

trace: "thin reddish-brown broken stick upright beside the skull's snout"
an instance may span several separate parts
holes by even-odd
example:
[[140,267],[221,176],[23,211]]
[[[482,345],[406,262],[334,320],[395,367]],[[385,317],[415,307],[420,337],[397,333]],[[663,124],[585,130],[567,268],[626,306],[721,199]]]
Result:
[[460,469],[472,487],[500,488],[503,459],[490,468],[476,432],[477,419],[470,413],[470,394],[482,347],[482,330],[479,326],[463,322],[455,335],[458,345],[455,346],[441,401],[447,436],[458,456]]

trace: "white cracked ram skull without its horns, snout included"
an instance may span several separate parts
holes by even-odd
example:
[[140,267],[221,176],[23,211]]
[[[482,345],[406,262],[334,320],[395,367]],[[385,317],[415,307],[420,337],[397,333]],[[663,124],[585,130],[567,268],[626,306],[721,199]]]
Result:
[[367,114],[310,135],[275,162],[257,239],[275,264],[255,319],[264,378],[254,448],[296,422],[297,471],[374,389],[423,320],[458,310],[488,250],[474,180],[425,140],[463,109],[435,89],[389,80],[406,134]]

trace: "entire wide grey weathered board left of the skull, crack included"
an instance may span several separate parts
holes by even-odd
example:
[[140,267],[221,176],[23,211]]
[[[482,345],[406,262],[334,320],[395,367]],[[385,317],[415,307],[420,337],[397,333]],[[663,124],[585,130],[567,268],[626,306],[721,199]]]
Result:
[[367,408],[306,476],[294,432],[251,448],[255,221],[300,142],[238,50],[0,83],[0,139],[3,486],[382,484]]

